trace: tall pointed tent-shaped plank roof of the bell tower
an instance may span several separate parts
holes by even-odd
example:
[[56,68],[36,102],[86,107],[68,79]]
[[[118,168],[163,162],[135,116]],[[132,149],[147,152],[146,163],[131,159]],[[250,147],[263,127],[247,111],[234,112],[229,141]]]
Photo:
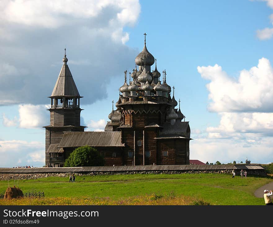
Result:
[[81,97],[68,65],[63,65],[50,97]]

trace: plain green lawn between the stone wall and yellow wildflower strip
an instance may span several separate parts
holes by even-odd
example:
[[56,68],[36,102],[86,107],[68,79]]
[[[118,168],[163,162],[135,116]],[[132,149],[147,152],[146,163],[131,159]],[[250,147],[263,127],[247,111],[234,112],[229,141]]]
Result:
[[[21,180],[23,191],[44,191],[45,197],[88,197],[112,200],[171,193],[190,196],[211,205],[264,205],[263,198],[256,198],[254,191],[273,178],[249,176],[246,179],[227,174],[130,174],[76,176],[75,183],[68,178],[48,177]],[[17,183],[17,182],[16,182]],[[13,181],[10,181],[13,186]],[[0,181],[0,192],[6,190],[7,181]]]

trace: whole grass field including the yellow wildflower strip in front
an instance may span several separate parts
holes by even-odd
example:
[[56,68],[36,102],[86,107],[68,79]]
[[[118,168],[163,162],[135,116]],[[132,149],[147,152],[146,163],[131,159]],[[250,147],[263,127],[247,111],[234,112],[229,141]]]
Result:
[[[76,182],[69,183],[68,178],[48,177],[19,181],[23,192],[44,191],[45,198],[0,200],[0,205],[264,205],[253,193],[272,180],[227,174],[132,174],[76,176]],[[7,181],[0,181],[0,192],[7,186]]]

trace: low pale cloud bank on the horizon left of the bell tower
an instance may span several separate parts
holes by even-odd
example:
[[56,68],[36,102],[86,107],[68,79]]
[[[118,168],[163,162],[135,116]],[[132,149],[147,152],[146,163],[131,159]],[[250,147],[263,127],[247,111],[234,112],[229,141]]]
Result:
[[21,140],[0,141],[0,166],[14,167],[16,165],[45,165],[45,145],[43,143]]

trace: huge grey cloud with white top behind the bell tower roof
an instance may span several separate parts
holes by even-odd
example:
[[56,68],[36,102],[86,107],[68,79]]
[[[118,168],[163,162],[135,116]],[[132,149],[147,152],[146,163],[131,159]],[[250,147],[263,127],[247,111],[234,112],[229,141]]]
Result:
[[107,97],[110,80],[134,66],[124,27],[139,14],[137,0],[1,1],[0,105],[49,103],[65,47],[81,103]]

